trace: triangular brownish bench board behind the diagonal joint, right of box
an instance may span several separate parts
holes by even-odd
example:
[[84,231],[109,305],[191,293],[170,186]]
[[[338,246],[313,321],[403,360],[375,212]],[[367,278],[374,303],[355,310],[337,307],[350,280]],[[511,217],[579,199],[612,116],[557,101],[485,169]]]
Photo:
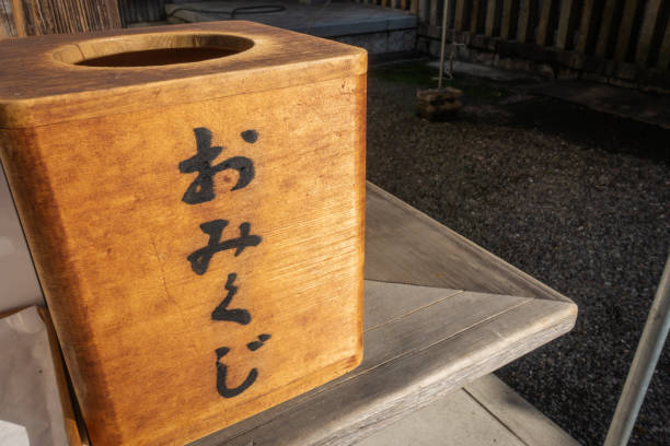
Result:
[[569,302],[369,183],[366,199],[367,279]]

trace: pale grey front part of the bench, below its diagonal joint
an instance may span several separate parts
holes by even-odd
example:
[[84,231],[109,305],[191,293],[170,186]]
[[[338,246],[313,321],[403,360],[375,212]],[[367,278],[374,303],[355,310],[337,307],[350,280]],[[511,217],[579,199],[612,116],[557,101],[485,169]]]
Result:
[[405,301],[413,308],[366,327],[360,367],[193,446],[353,445],[575,320],[564,302],[366,281],[366,319]]

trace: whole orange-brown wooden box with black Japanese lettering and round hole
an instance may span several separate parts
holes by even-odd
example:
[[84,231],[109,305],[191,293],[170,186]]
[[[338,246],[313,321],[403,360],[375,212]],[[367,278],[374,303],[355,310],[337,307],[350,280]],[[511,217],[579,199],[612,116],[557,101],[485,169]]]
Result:
[[362,49],[249,22],[0,43],[0,149],[93,446],[362,355]]

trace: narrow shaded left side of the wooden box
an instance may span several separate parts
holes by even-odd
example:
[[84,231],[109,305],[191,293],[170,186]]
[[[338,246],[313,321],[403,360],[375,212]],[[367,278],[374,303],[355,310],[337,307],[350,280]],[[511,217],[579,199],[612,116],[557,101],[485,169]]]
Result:
[[[102,423],[112,422],[114,411],[101,388],[105,378],[100,368],[97,348],[92,342],[88,320],[88,307],[81,300],[79,277],[72,269],[68,235],[62,225],[60,206],[51,188],[49,166],[41,151],[48,150],[48,139],[39,141],[33,129],[0,129],[0,156],[4,173],[19,212],[31,256],[39,278],[41,286],[58,330],[58,340],[68,359],[70,376],[78,383],[95,384],[80,386],[81,401],[95,401],[108,408],[100,412]],[[111,442],[120,437],[109,433]]]

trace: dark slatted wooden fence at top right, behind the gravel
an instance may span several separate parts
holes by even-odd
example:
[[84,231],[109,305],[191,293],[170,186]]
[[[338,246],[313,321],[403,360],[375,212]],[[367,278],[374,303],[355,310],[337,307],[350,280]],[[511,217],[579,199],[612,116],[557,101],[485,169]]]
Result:
[[[444,0],[358,0],[417,14],[441,36]],[[670,0],[449,0],[448,36],[472,49],[593,79],[670,89]]]

